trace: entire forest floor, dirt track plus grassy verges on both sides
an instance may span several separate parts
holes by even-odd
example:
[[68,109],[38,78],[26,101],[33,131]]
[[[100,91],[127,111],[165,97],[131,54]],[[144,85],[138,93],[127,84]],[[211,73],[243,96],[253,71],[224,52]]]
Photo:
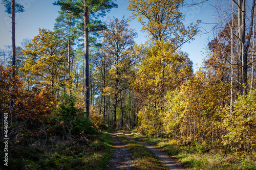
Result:
[[[0,169],[4,166],[0,142]],[[138,131],[97,132],[72,141],[24,137],[9,143],[9,169],[190,169],[256,170],[252,155],[210,148],[197,142],[146,137]],[[183,166],[181,166],[183,165]]]

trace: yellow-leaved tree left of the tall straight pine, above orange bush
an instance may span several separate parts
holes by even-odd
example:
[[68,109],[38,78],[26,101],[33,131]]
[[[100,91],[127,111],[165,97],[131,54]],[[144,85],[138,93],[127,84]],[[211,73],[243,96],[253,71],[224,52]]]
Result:
[[65,81],[67,69],[63,57],[64,46],[58,32],[39,29],[39,34],[27,44],[24,54],[28,55],[22,68],[30,82],[36,86],[50,86],[55,94]]

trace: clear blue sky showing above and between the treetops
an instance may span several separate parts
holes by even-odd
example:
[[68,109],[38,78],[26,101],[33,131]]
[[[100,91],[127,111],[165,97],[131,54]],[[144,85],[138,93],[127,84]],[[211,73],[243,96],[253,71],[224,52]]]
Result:
[[[188,0],[190,1],[190,0]],[[1,1],[2,2],[2,1]],[[20,42],[24,38],[32,39],[38,34],[38,28],[45,28],[53,30],[55,18],[58,16],[58,6],[53,6],[54,0],[16,0],[17,3],[22,4],[25,7],[25,12],[16,14],[16,46],[20,46]],[[107,16],[115,16],[121,18],[130,16],[130,12],[126,10],[128,7],[128,0],[117,0],[118,8],[112,9]],[[209,1],[202,7],[186,8],[182,9],[186,15],[185,24],[189,25],[190,22],[196,22],[198,19],[203,22],[214,22],[214,8],[211,6],[214,2]],[[106,18],[105,17],[105,18]],[[143,43],[145,41],[145,33],[142,33],[141,25],[137,20],[133,20],[130,23],[132,28],[135,28],[138,33],[137,43]],[[211,34],[203,34],[206,31],[211,30],[211,25],[201,24],[201,30],[195,37],[194,41],[186,43],[182,46],[182,50],[188,53],[190,60],[193,61],[194,65],[202,63],[205,55],[206,45],[208,43],[208,37]],[[5,45],[11,45],[11,18],[5,12],[4,4],[0,4],[0,48],[4,48]]]

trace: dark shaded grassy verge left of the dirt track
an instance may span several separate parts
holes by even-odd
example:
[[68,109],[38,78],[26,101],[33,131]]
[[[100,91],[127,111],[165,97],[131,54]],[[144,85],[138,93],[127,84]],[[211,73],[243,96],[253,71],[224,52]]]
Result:
[[[28,146],[9,144],[9,169],[106,169],[110,156],[111,136],[98,133],[86,140],[72,143],[50,138]],[[4,157],[4,145],[0,143],[0,157]],[[4,169],[3,160],[0,163]]]

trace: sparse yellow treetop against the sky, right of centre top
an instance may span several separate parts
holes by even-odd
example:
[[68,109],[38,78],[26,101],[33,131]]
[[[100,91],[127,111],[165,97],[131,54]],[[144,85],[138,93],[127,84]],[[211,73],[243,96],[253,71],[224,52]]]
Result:
[[129,10],[131,18],[138,18],[142,31],[153,41],[169,41],[173,44],[173,51],[197,34],[198,22],[185,28],[182,23],[184,16],[179,8],[183,0],[130,0]]

